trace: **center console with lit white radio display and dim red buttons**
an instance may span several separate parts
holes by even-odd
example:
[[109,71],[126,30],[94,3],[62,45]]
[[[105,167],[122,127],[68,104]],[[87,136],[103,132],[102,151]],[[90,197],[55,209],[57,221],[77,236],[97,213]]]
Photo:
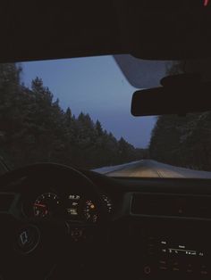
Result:
[[210,279],[209,222],[152,219],[134,222],[130,235],[131,263],[136,276],[141,275],[144,279]]

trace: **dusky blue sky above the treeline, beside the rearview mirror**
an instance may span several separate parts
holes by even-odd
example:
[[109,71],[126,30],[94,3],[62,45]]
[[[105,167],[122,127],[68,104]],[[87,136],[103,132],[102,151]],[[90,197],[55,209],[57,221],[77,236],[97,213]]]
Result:
[[42,78],[59,98],[63,110],[89,113],[104,129],[135,147],[148,146],[155,117],[131,116],[131,86],[113,56],[73,58],[43,62],[22,62],[22,81],[30,87],[33,78]]

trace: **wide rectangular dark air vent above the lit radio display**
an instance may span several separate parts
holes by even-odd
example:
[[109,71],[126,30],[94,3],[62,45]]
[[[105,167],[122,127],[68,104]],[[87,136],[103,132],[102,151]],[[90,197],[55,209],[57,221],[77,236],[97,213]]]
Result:
[[131,213],[150,216],[211,218],[211,196],[133,194]]

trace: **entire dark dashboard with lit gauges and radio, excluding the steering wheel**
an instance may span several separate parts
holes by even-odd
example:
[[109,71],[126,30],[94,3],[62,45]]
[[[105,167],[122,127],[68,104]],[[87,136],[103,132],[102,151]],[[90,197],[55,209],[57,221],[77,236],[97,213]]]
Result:
[[[81,172],[97,185],[108,217],[105,239],[97,243],[102,245],[97,248],[101,258],[96,256],[91,271],[99,268],[102,274],[104,269],[103,276],[111,279],[210,278],[210,180],[105,177]],[[82,247],[86,231],[80,224],[95,225],[101,215],[95,198],[80,185],[51,183],[37,185],[35,181],[28,188],[23,179],[19,192],[15,191],[17,184],[7,187],[0,194],[0,210],[13,214],[15,204],[23,217],[69,221],[72,243]],[[89,243],[89,250],[91,246]],[[79,259],[82,264],[81,254]]]

